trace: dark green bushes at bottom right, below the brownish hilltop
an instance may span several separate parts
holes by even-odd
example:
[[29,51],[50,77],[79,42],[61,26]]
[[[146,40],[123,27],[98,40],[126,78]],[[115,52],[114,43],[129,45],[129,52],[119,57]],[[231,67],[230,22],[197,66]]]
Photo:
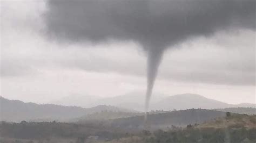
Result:
[[256,141],[256,130],[241,128],[233,130],[231,128],[204,128],[199,130],[198,128],[190,128],[189,130],[179,131],[163,131],[157,130],[144,138],[144,142],[159,142],[159,143],[174,143],[174,142],[209,142],[209,143],[224,143],[230,141],[232,143],[242,142],[243,140]]

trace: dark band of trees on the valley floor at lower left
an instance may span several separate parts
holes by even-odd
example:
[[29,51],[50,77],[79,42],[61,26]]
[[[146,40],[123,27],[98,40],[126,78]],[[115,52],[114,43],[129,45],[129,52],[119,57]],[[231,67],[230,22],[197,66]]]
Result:
[[0,124],[0,137],[15,139],[47,139],[49,137],[76,138],[81,140],[90,135],[113,139],[125,137],[126,132],[116,128],[104,128],[103,124],[73,124],[57,122],[25,122]]

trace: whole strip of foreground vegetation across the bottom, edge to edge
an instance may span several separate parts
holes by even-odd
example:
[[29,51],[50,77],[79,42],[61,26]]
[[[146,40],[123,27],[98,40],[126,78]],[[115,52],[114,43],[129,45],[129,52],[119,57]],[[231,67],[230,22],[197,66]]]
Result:
[[75,123],[5,123],[0,124],[4,143],[84,143],[84,142],[256,142],[256,115],[227,112],[226,117],[171,126],[161,130],[127,130],[100,121]]

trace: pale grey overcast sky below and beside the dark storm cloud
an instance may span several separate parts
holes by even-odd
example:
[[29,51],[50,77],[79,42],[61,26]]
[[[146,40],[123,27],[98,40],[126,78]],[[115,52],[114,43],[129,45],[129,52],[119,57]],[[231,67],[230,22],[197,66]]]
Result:
[[[44,1],[1,2],[1,96],[45,103],[146,90],[146,55],[136,42],[56,42],[44,36],[46,10]],[[236,28],[175,45],[164,53],[154,91],[255,103],[255,34]]]

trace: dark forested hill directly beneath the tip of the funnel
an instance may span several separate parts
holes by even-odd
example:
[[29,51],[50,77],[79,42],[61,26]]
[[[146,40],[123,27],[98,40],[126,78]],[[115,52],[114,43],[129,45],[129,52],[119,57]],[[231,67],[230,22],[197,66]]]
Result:
[[[226,112],[206,110],[206,109],[189,109],[164,113],[153,113],[147,116],[147,125],[152,128],[186,126],[188,124],[200,124],[204,121],[212,120],[219,117],[225,117]],[[136,116],[112,120],[113,126],[139,128],[144,126],[144,116]]]

